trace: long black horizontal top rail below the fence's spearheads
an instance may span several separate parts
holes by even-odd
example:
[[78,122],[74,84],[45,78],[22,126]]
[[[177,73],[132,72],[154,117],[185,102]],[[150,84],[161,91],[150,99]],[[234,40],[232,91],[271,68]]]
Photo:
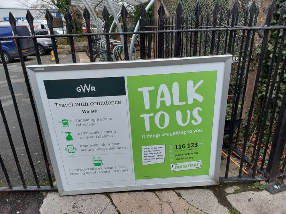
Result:
[[112,33],[85,33],[85,34],[60,34],[60,35],[38,35],[38,36],[14,36],[0,37],[4,39],[29,39],[29,38],[53,38],[53,37],[86,37],[86,36],[108,36],[108,35],[128,35],[140,33],[178,33],[178,32],[200,32],[200,31],[234,31],[234,30],[265,30],[265,29],[286,29],[286,26],[254,26],[254,27],[230,27],[230,28],[210,28],[210,29],[181,29],[181,30],[163,30],[163,31],[135,31],[135,32],[112,32]]

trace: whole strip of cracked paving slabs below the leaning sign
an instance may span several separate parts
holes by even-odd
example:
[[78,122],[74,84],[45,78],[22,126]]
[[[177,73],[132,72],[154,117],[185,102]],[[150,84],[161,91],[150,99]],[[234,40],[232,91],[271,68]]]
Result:
[[57,192],[50,192],[39,211],[41,214],[285,214],[285,197],[286,192],[271,195],[266,190],[258,189],[253,182],[74,196],[59,196]]

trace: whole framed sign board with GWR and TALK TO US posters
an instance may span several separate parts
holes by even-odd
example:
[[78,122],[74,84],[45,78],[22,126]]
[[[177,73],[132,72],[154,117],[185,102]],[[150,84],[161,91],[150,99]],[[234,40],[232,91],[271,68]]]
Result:
[[218,184],[231,60],[27,66],[60,195]]

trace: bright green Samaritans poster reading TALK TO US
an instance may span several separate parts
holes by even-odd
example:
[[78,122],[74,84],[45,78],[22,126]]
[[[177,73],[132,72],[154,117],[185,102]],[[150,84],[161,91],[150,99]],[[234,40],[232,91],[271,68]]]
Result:
[[216,77],[127,76],[135,179],[209,174]]

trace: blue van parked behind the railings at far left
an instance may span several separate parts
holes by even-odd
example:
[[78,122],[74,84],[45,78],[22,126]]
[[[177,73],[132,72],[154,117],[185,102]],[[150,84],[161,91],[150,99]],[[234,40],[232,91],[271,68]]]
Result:
[[[24,26],[24,25],[17,26],[17,34],[19,36],[30,36],[31,35],[27,26]],[[0,37],[12,37],[12,36],[14,36],[14,33],[10,25],[0,25]],[[24,58],[35,54],[33,40],[31,38],[19,39],[19,41],[20,41],[21,50],[22,50],[22,54]],[[17,44],[16,44],[15,39],[1,40],[1,45],[3,48],[6,63],[11,62],[14,58],[19,58]],[[1,60],[1,56],[0,56],[0,60]]]

